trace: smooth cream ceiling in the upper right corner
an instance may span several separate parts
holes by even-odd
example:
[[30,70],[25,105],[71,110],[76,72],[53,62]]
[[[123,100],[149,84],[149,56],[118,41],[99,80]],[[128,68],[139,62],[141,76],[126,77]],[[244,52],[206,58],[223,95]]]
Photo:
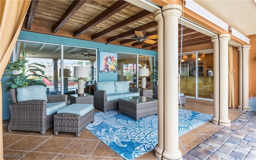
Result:
[[194,2],[243,35],[256,34],[256,0],[194,0]]

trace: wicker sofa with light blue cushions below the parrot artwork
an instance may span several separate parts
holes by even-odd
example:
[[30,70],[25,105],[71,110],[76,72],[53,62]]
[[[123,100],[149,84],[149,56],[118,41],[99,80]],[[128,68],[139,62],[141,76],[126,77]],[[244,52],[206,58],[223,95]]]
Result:
[[108,81],[96,83],[94,92],[94,107],[106,112],[118,109],[118,99],[140,96],[139,88],[130,88],[128,81]]

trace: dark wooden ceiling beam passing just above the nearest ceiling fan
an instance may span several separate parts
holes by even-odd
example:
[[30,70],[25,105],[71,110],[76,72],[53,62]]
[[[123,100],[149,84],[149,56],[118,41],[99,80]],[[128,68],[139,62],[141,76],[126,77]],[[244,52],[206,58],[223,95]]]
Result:
[[130,35],[134,34],[134,31],[136,31],[136,30],[146,30],[148,28],[153,28],[153,27],[156,27],[156,26],[157,26],[156,21],[149,22],[147,24],[144,24],[143,26],[139,26],[139,27],[134,28],[132,30],[128,30],[127,32],[124,32],[124,33],[118,34],[116,36],[110,37],[110,38],[108,38],[107,42],[110,43],[112,41],[115,41],[116,38],[124,38],[124,37],[130,36]]

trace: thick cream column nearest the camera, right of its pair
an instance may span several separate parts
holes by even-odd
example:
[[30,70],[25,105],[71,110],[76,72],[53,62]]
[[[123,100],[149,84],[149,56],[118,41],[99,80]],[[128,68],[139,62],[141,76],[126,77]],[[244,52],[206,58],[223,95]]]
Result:
[[163,160],[179,160],[182,159],[182,154],[178,147],[178,18],[182,7],[177,4],[168,4],[163,6],[162,10],[165,80]]

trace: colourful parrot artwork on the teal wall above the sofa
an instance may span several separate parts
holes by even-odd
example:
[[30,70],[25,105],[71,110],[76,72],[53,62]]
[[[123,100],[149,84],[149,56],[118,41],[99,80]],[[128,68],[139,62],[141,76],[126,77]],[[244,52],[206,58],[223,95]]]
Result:
[[117,72],[117,53],[100,52],[100,72]]

